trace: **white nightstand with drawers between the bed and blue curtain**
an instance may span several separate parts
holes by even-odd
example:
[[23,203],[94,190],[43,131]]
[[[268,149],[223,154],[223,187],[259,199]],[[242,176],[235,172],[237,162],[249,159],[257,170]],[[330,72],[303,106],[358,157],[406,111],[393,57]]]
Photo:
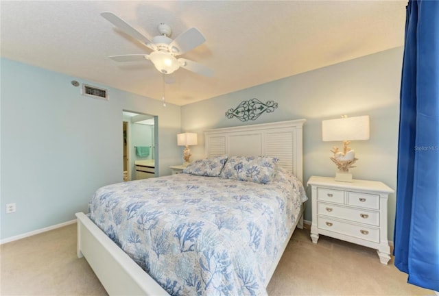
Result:
[[319,234],[377,249],[387,264],[387,200],[394,190],[381,182],[336,182],[333,177],[309,178],[312,201],[311,239]]

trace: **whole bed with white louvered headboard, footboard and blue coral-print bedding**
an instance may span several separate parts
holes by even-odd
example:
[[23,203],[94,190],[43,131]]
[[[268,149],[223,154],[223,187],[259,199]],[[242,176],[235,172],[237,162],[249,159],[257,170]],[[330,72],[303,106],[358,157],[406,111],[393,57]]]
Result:
[[[304,122],[205,132],[206,157],[225,163],[210,177],[194,164],[187,173],[99,188],[89,214],[77,213],[78,257],[110,295],[266,294],[302,225]],[[261,164],[264,177],[236,180],[234,161],[246,160]]]

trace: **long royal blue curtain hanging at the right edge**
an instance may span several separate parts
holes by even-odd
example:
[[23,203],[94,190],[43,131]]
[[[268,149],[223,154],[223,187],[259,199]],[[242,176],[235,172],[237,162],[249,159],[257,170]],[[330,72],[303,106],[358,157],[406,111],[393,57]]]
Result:
[[409,1],[399,119],[394,264],[439,291],[439,1]]

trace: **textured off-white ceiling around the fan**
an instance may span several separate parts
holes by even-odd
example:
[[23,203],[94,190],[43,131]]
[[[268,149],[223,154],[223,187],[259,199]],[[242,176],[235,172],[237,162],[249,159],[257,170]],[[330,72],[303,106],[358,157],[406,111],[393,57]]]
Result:
[[206,38],[180,56],[215,71],[185,69],[166,84],[166,100],[185,105],[403,45],[407,1],[1,1],[1,56],[161,99],[161,73],[150,53],[115,29],[110,11],[152,38],[158,23],[171,38],[196,27]]

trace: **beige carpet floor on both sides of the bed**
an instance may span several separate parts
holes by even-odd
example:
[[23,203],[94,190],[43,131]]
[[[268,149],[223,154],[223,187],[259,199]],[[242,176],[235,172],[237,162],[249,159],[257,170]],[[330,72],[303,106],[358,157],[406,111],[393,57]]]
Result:
[[[268,295],[435,295],[379,262],[373,249],[296,230],[268,284]],[[76,224],[0,246],[1,295],[107,295],[84,258]]]

